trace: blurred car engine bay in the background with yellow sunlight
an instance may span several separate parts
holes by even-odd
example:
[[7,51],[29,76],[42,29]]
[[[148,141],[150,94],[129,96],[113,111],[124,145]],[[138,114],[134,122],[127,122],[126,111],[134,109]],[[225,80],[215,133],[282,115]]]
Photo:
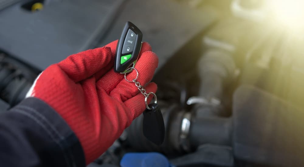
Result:
[[143,136],[140,115],[89,166],[119,166],[127,152],[160,152],[174,166],[303,166],[301,5],[2,0],[0,107],[20,102],[50,64],[118,39],[131,21],[159,56],[153,81],[165,141]]

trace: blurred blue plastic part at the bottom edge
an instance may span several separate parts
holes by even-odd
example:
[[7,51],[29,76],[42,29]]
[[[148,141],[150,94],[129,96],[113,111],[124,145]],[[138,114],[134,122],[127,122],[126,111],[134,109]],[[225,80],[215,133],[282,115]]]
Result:
[[126,153],[120,161],[122,167],[170,167],[168,159],[157,152]]

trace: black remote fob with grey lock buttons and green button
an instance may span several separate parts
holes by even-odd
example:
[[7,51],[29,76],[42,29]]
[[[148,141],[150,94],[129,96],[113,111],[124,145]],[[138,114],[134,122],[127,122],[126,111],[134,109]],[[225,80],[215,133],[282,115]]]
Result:
[[127,22],[116,48],[114,63],[114,71],[116,73],[128,73],[133,70],[127,69],[135,66],[142,39],[142,32],[133,23]]

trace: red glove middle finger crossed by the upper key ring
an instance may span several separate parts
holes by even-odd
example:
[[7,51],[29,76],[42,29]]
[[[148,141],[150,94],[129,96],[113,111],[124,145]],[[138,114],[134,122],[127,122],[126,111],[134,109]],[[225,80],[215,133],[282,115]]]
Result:
[[[155,53],[147,51],[142,54],[135,66],[136,70],[139,73],[136,81],[140,82],[141,86],[145,86],[152,80],[157,64],[158,58]],[[130,81],[135,79],[136,71],[133,70],[131,73],[127,74],[126,78]],[[128,82],[123,79],[110,92],[110,96],[119,101],[126,101],[127,99],[135,96],[138,92],[139,90],[133,82]]]

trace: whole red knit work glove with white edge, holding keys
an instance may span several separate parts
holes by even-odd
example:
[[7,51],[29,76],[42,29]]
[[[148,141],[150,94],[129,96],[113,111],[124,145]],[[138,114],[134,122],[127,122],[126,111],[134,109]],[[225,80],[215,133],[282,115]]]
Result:
[[[113,70],[116,45],[114,41],[49,66],[27,94],[49,104],[67,122],[81,142],[87,164],[105,152],[145,110],[144,96],[135,84]],[[143,43],[135,66],[141,85],[150,82],[157,64],[156,54]],[[135,70],[127,74],[128,80],[135,77]],[[145,88],[155,93],[157,85],[150,83]]]

